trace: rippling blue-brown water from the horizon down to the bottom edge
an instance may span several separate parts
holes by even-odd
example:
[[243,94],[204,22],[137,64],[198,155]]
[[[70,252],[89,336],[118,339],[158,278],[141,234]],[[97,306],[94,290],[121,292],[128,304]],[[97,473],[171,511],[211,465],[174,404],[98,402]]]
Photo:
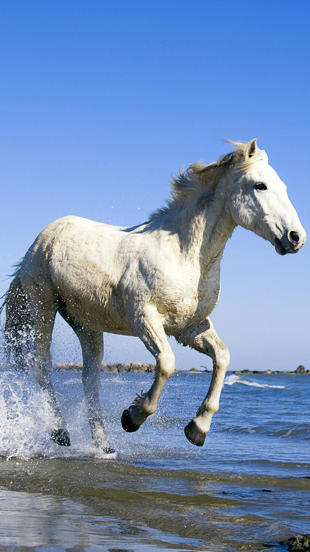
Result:
[[124,407],[151,374],[101,375],[98,454],[81,374],[54,374],[72,446],[49,439],[52,414],[30,375],[0,376],[1,550],[278,550],[309,532],[309,375],[226,376],[204,447],[185,438],[210,374],[175,373],[136,433]]

